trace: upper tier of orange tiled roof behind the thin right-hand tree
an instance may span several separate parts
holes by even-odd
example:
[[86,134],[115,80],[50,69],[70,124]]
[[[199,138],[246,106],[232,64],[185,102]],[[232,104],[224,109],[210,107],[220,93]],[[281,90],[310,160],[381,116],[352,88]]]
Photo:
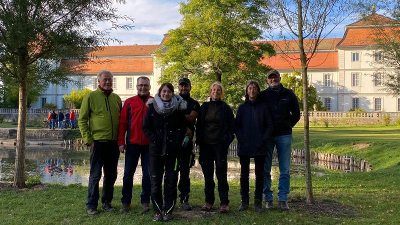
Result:
[[[341,38],[325,38],[319,42],[318,50],[333,50]],[[253,43],[269,42],[278,51],[298,51],[297,40],[271,40],[271,41],[253,41]],[[304,39],[304,49],[309,49],[313,45],[311,39]]]

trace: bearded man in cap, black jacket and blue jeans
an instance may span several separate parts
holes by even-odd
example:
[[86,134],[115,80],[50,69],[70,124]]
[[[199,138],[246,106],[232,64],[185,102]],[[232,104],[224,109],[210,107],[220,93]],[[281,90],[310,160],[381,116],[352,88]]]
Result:
[[287,194],[290,188],[290,156],[292,143],[292,127],[300,119],[298,100],[293,91],[283,87],[280,83],[280,74],[272,69],[267,73],[269,88],[263,90],[261,95],[268,105],[272,115],[272,138],[267,141],[268,151],[265,157],[264,167],[264,200],[265,207],[273,209],[271,190],[271,165],[272,152],[276,147],[279,163],[278,205],[283,211],[289,210]]

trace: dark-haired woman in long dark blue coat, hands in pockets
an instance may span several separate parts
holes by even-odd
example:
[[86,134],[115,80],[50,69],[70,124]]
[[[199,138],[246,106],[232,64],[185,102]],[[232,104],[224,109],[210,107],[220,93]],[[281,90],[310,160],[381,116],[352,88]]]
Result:
[[240,195],[239,211],[248,208],[249,200],[249,165],[250,158],[255,164],[254,209],[262,213],[262,188],[266,141],[272,133],[272,118],[265,102],[261,100],[257,82],[250,81],[246,85],[245,101],[236,113],[237,155],[240,160]]

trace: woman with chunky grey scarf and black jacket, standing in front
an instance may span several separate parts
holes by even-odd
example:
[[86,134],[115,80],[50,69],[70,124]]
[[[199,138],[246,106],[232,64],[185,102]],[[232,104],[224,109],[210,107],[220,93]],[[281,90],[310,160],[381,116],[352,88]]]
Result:
[[[173,94],[171,83],[162,83],[153,99],[147,101],[143,132],[150,140],[150,179],[153,221],[169,221],[176,204],[176,183],[179,170],[179,149],[187,135],[184,109],[186,101]],[[161,183],[164,180],[162,203]],[[163,208],[161,208],[163,207]],[[161,215],[164,211],[163,216]]]

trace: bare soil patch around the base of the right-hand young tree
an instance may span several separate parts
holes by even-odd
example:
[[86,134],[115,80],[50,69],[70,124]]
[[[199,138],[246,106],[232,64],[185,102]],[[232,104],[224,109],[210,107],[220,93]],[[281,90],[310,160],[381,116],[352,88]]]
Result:
[[291,198],[287,201],[290,210],[312,215],[326,215],[333,217],[354,217],[356,210],[333,200],[315,200],[307,204],[305,198]]

